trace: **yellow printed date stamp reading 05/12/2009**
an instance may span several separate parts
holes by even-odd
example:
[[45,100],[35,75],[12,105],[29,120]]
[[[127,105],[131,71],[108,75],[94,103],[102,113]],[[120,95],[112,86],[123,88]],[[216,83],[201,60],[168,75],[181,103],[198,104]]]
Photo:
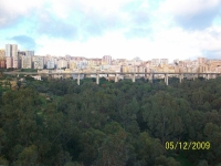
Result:
[[210,142],[166,142],[166,149],[210,149]]

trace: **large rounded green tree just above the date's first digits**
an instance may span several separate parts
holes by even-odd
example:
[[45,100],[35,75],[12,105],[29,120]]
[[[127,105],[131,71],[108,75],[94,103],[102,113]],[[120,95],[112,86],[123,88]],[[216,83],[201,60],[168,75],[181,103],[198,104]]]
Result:
[[143,116],[149,132],[155,137],[166,141],[178,138],[182,131],[182,121],[179,116],[179,105],[168,93],[158,93],[150,96],[143,106]]

